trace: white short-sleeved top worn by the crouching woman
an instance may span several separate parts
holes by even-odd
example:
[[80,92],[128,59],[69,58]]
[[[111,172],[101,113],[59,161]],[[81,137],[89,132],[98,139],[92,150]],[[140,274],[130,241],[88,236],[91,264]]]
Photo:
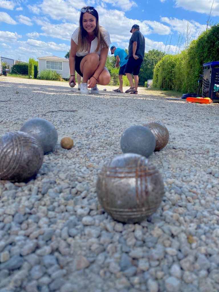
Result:
[[[75,29],[75,31],[72,34],[72,39],[76,45],[78,44],[78,30],[79,30],[79,27],[77,29]],[[105,39],[107,45],[109,46],[111,44],[109,32],[107,32],[107,30],[104,27],[100,27],[100,31],[102,32],[103,38]],[[97,37],[95,37],[95,39],[91,42],[90,53],[88,53],[88,51],[77,52],[76,56],[78,56],[78,57],[83,56],[84,57],[84,56],[91,54],[91,53],[96,53],[100,56],[101,48],[99,48],[99,51],[95,52],[96,48],[97,48],[97,44],[98,44],[98,40],[97,40]]]

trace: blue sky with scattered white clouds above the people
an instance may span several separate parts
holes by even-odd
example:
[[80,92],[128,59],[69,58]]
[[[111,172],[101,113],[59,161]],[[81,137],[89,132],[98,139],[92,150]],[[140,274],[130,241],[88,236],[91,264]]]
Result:
[[219,16],[219,0],[0,0],[0,55],[24,61],[64,58],[80,8],[88,5],[96,8],[117,47],[128,48],[131,26],[140,25],[146,52],[178,53],[206,29],[210,11],[211,23]]

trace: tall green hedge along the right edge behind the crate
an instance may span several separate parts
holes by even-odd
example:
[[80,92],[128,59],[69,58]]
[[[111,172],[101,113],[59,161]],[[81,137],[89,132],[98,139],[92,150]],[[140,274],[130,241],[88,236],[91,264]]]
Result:
[[219,24],[216,24],[202,32],[180,54],[164,56],[154,68],[153,87],[197,93],[202,65],[218,60]]

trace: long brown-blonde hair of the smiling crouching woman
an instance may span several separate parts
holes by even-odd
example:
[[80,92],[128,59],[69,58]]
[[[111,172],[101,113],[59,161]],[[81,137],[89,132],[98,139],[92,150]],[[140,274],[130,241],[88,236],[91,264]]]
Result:
[[[81,11],[80,18],[79,18],[78,52],[87,51],[87,45],[88,45],[87,39],[86,39],[87,32],[83,27],[83,14],[84,13]],[[91,13],[91,15],[93,15],[96,18],[96,27],[94,30],[94,35],[95,35],[95,37],[97,37],[97,48],[96,48],[95,52],[98,52],[99,48],[108,48],[108,45],[107,45],[107,43],[102,35],[102,32],[100,30],[98,12],[95,9],[93,9],[91,12],[88,12],[88,13]]]

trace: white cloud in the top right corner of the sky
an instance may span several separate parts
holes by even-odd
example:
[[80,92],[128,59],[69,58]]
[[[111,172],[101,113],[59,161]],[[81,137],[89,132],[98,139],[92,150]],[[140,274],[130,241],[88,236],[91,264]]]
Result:
[[[185,10],[196,11],[207,15],[211,11],[212,2],[212,0],[175,0],[176,7],[182,7]],[[214,1],[211,15],[219,16],[219,0]]]

